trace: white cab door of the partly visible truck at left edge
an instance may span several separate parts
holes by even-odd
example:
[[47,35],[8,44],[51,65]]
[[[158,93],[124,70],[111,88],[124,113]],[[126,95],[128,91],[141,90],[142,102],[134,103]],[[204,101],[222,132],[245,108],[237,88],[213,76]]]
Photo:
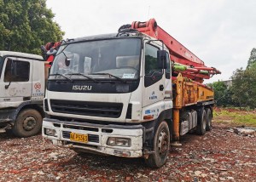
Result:
[[31,100],[32,60],[6,58],[0,80],[0,107],[17,107]]

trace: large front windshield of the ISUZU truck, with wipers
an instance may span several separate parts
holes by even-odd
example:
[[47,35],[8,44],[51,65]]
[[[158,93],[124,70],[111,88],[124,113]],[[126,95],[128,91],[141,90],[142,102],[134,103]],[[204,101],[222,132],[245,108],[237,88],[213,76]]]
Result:
[[[122,38],[71,43],[61,46],[50,74],[71,79],[137,79],[139,76],[141,39]],[[63,79],[63,77],[49,77]]]

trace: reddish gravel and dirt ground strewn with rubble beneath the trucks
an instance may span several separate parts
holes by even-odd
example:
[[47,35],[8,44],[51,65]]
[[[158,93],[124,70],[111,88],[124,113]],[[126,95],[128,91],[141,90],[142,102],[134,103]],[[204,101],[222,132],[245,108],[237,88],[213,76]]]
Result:
[[0,181],[256,181],[256,137],[213,122],[204,136],[187,134],[166,165],[148,168],[143,158],[78,155],[45,142],[0,134]]

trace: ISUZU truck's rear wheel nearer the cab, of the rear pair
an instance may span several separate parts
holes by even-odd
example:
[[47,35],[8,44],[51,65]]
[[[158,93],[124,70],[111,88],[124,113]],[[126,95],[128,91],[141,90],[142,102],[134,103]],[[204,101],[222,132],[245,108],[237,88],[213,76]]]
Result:
[[207,112],[202,107],[197,111],[197,128],[196,134],[204,135],[207,132]]

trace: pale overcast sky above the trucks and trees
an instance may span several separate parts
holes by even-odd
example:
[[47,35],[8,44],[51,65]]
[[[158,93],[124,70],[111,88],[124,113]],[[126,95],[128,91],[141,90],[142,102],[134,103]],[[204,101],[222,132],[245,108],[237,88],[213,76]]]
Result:
[[65,38],[117,32],[132,21],[158,25],[228,80],[256,48],[256,0],[47,0]]

